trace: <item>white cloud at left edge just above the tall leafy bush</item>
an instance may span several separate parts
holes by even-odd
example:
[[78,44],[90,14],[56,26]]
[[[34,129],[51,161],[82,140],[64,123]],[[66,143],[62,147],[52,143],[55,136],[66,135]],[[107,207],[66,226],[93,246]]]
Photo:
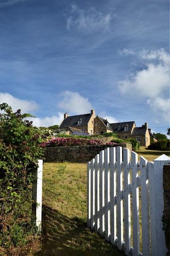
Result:
[[7,103],[13,112],[21,109],[21,113],[33,114],[35,110],[38,109],[38,105],[34,101],[29,101],[26,99],[18,99],[9,93],[0,93],[0,104]]

